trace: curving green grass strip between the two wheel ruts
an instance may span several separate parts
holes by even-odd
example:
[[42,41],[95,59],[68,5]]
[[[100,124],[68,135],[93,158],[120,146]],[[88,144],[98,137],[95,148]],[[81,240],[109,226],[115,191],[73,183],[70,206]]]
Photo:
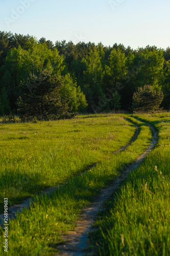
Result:
[[[117,119],[117,131],[123,128],[121,122],[126,123],[119,116],[111,116],[110,118],[115,121]],[[89,119],[84,120],[88,121]],[[96,122],[95,120],[97,119],[92,118],[89,123],[92,121]],[[107,120],[108,116],[102,127],[107,127],[108,129]],[[135,161],[138,155],[143,153],[150,143],[152,135],[149,127],[135,121],[133,118],[131,120],[140,126],[140,134],[125,151],[116,155],[109,154],[108,151],[107,156],[109,155],[109,159],[103,159],[101,163],[91,168],[88,172],[70,178],[68,183],[63,184],[50,196],[37,198],[37,201],[34,202],[30,209],[24,210],[21,214],[17,215],[16,220],[9,222],[8,254],[10,256],[23,254],[28,256],[54,255],[58,251],[57,245],[62,242],[61,234],[67,233],[68,230],[75,227],[75,221],[79,218],[82,208],[93,201],[94,195],[97,195],[102,187],[109,185],[109,182],[116,179],[127,165]],[[111,126],[112,129],[115,129],[115,126]],[[128,127],[129,125],[126,125],[127,130]],[[95,136],[96,131],[95,127]],[[123,134],[122,139],[124,136]],[[106,138],[105,144],[107,144]],[[100,145],[101,143],[98,144],[99,148]],[[114,148],[115,150],[116,147]],[[105,156],[103,155],[103,150],[101,154]],[[2,245],[3,240],[3,230],[1,229]],[[2,247],[0,247],[0,254],[4,255]]]

